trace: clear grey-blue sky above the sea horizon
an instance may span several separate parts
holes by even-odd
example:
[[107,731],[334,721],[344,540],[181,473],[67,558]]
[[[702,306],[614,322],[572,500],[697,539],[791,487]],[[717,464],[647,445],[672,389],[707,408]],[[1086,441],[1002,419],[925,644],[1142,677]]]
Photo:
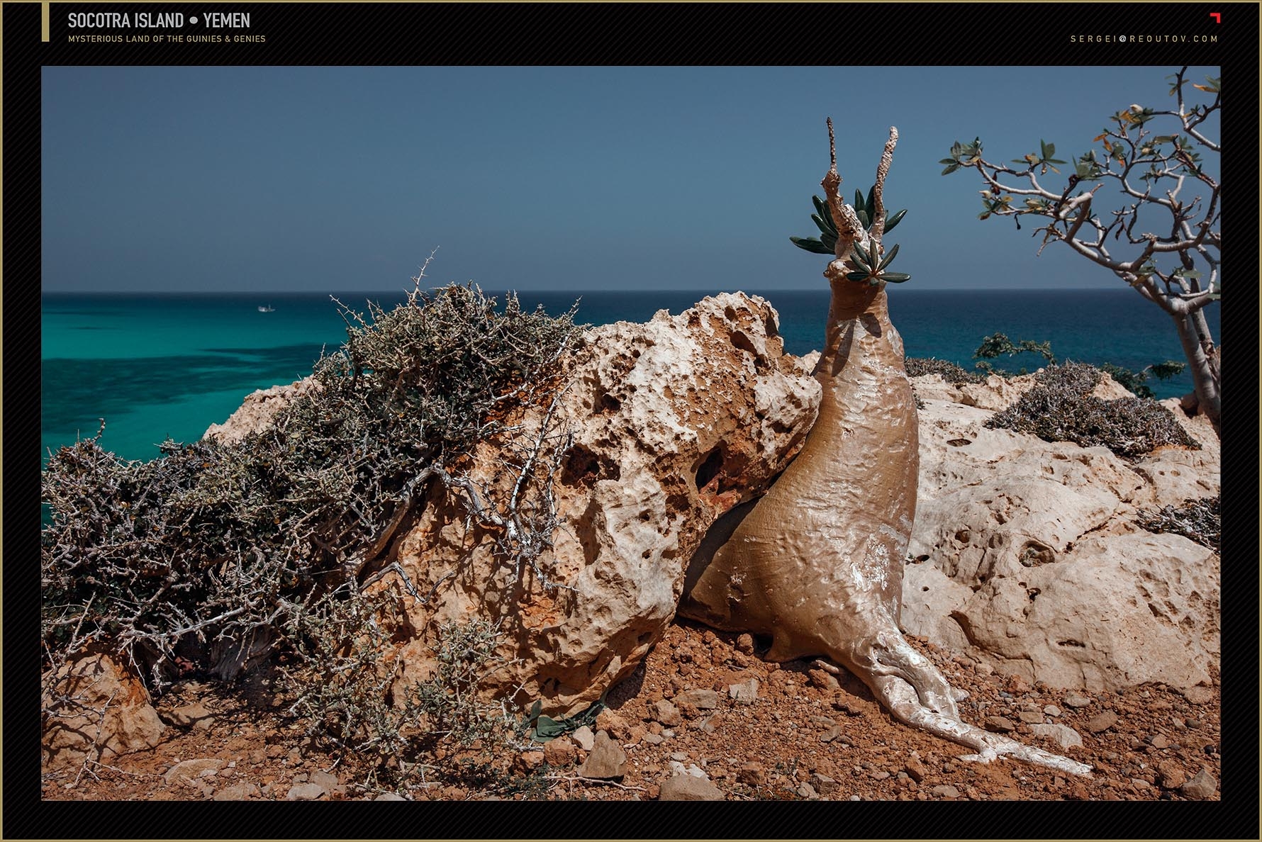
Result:
[[1116,287],[938,160],[1069,160],[1175,69],[48,67],[43,288],[398,290],[434,246],[434,284],[813,288],[825,116],[847,194],[899,126],[909,287]]

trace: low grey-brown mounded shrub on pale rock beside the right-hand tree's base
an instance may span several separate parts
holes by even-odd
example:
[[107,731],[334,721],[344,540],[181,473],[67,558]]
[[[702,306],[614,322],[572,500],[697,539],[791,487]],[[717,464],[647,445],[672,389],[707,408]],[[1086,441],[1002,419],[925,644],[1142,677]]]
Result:
[[1199,448],[1170,412],[1151,398],[1102,400],[1090,391],[1102,372],[1082,362],[1047,366],[1035,375],[1034,389],[986,425],[1030,433],[1046,442],[1107,447],[1123,458],[1150,453],[1164,444]]

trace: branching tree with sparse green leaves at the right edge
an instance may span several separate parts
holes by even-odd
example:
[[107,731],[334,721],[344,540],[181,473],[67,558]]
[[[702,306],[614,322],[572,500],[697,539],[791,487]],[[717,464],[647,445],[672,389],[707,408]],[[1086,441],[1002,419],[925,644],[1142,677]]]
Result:
[[[1201,91],[1209,102],[1185,100],[1188,68],[1170,76],[1175,107],[1156,110],[1131,105],[1112,117],[1090,148],[1073,160],[1064,187],[1045,183],[1059,177],[1055,144],[1039,143],[1008,164],[983,157],[982,141],[955,141],[943,174],[974,169],[986,188],[979,218],[1011,216],[1042,220],[1042,251],[1064,242],[1108,269],[1174,321],[1196,391],[1199,410],[1219,425],[1219,350],[1214,346],[1205,305],[1222,295],[1220,179],[1206,169],[1203,154],[1218,154],[1219,141],[1205,134],[1205,121],[1222,106],[1222,77],[1206,77]],[[1170,134],[1157,134],[1156,126]],[[1169,129],[1166,129],[1169,126]],[[1119,191],[1121,207],[1102,210]]]

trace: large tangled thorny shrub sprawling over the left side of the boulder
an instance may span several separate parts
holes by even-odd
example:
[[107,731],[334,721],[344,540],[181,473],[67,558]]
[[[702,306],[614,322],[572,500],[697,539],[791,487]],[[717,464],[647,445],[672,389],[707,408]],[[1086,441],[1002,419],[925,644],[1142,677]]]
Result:
[[[360,587],[430,480],[497,535],[506,563],[535,564],[555,526],[551,475],[569,441],[555,410],[574,311],[524,312],[512,294],[497,309],[476,287],[424,294],[423,276],[390,312],[343,305],[348,340],[316,364],[313,388],[239,443],[168,441],[160,458],[127,462],[98,433],[50,456],[45,685],[90,643],[112,648],[154,692],[182,673],[228,679],[279,649],[316,651],[334,627],[343,648],[358,641],[351,656],[375,658],[380,606]],[[546,406],[538,429],[505,420],[528,406]],[[459,468],[491,437],[507,442],[515,471],[505,500]],[[327,698],[299,696],[313,717],[313,699]],[[45,716],[72,703],[48,698]]]

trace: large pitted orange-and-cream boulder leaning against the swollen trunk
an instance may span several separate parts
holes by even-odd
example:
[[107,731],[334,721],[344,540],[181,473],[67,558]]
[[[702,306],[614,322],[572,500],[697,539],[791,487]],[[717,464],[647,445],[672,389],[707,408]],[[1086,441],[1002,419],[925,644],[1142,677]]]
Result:
[[[572,444],[553,486],[562,526],[539,571],[505,563],[493,534],[467,528],[466,505],[433,483],[396,545],[418,591],[434,593],[428,605],[404,598],[404,625],[418,631],[401,644],[400,682],[427,677],[433,629],[481,617],[500,624],[502,654],[515,659],[488,680],[493,691],[543,699],[551,713],[598,699],[664,632],[709,525],[764,492],[800,449],[820,394],[784,355],[771,305],[740,293],[592,328],[563,381]],[[521,436],[541,414],[521,419]],[[505,489],[501,443],[480,444],[466,470]]]

